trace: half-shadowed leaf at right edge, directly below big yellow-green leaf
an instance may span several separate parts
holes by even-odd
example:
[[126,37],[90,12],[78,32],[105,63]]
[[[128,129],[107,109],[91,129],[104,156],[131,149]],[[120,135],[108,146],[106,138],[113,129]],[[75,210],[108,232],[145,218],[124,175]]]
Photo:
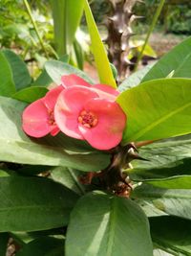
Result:
[[148,161],[134,161],[127,170],[132,179],[141,181],[175,175],[191,175],[191,137],[184,135],[140,148]]

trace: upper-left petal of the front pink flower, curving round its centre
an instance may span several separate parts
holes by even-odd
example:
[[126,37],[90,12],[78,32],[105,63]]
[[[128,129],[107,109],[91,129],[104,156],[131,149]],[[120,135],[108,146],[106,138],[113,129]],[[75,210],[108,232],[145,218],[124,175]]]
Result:
[[84,139],[78,129],[78,116],[86,101],[98,95],[91,88],[72,86],[61,92],[54,107],[54,118],[58,128],[66,135]]

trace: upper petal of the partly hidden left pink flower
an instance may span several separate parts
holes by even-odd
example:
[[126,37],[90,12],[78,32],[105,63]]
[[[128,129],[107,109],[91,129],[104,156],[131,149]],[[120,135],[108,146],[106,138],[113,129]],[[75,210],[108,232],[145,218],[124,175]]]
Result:
[[48,109],[53,110],[54,105],[56,103],[57,97],[59,94],[64,90],[62,85],[59,85],[52,90],[50,90],[46,96],[42,99],[44,104],[47,106]]

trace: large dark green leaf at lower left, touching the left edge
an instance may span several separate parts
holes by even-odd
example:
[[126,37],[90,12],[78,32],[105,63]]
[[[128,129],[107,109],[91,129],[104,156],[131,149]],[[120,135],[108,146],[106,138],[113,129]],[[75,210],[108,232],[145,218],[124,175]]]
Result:
[[74,192],[48,178],[1,177],[1,232],[44,230],[66,225],[76,200]]

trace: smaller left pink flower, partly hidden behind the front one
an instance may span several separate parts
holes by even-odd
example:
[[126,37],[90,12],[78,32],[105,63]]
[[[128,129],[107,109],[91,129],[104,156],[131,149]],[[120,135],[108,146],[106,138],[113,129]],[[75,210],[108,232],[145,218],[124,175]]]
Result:
[[23,130],[30,136],[39,138],[49,133],[53,136],[59,132],[54,120],[54,105],[57,97],[63,90],[63,86],[57,86],[50,90],[45,97],[28,105],[23,112]]

